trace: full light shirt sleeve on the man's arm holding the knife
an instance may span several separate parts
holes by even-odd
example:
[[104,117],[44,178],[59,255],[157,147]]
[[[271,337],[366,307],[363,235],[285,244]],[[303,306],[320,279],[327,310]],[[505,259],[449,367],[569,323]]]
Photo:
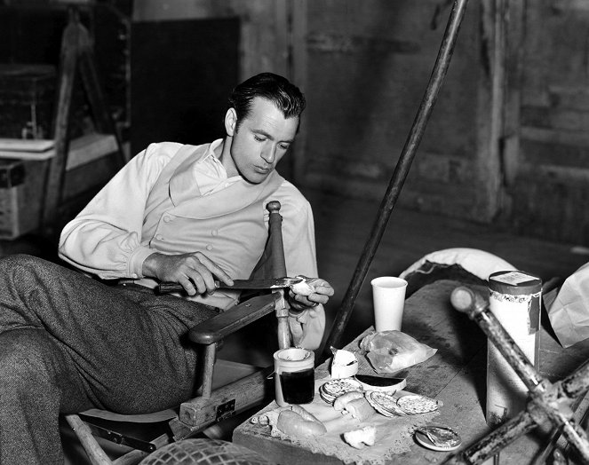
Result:
[[178,146],[152,144],[133,157],[61,232],[60,258],[104,280],[142,278],[155,250],[142,245],[147,196]]

